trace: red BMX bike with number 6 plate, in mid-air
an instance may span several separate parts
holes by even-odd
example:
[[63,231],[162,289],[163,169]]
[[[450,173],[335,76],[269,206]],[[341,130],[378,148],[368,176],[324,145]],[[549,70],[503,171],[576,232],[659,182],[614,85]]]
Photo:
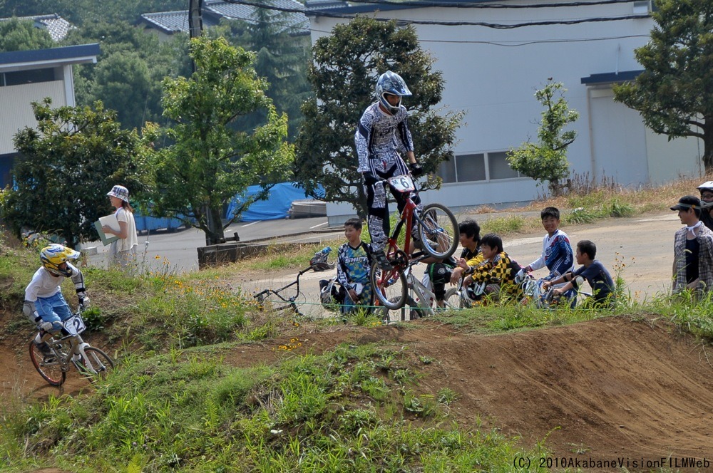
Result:
[[[408,301],[409,284],[406,274],[409,272],[411,255],[408,253],[411,246],[411,232],[416,225],[416,230],[421,242],[421,251],[436,259],[450,257],[458,246],[458,222],[448,207],[443,204],[428,204],[421,212],[417,211],[416,204],[411,199],[411,192],[416,191],[416,183],[410,175],[390,177],[386,181],[395,192],[404,194],[406,204],[399,222],[396,223],[394,232],[388,239],[386,259],[391,263],[392,269],[382,271],[379,265],[371,266],[371,286],[374,288],[376,299],[389,310],[403,307]],[[397,240],[401,229],[406,230],[404,235],[404,249],[399,247]]]

